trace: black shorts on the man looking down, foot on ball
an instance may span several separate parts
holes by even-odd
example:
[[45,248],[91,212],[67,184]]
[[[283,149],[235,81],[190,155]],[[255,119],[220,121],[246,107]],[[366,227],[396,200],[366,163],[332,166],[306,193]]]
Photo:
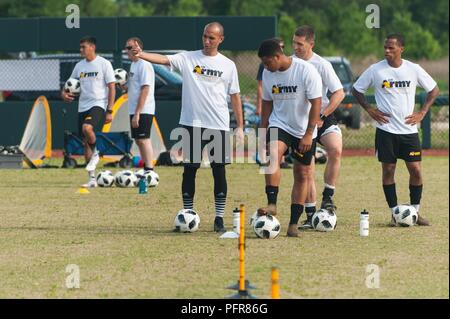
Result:
[[303,165],[311,165],[311,160],[316,153],[316,140],[316,138],[312,140],[311,149],[308,152],[300,153],[298,151],[300,139],[289,134],[285,130],[278,127],[269,127],[266,136],[267,146],[269,146],[270,141],[282,141],[288,147],[285,155],[291,153],[292,158]]

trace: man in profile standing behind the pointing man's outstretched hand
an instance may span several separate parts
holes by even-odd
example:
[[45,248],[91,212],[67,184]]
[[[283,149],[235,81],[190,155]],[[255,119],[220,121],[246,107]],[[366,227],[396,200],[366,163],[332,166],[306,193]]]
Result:
[[153,170],[153,149],[150,140],[153,117],[155,115],[155,71],[150,62],[136,57],[133,48],[144,48],[141,39],[127,40],[125,49],[131,61],[128,82],[122,86],[128,92],[128,111],[130,113],[131,137],[135,140],[144,171]]

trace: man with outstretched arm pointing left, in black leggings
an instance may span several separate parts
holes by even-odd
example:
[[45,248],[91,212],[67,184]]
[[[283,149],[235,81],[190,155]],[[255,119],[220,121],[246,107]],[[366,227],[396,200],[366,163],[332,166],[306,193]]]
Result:
[[[202,150],[208,144],[214,176],[216,217],[214,231],[225,232],[223,215],[227,196],[225,165],[230,163],[230,116],[227,97],[230,96],[237,122],[238,139],[243,139],[242,103],[236,65],[219,53],[224,40],[223,27],[212,22],[203,30],[203,49],[165,56],[145,53],[138,48],[134,54],[152,63],[170,65],[183,77],[180,124],[183,136],[184,172],[183,206],[192,209],[195,176],[201,163]],[[210,143],[211,142],[211,143]]]

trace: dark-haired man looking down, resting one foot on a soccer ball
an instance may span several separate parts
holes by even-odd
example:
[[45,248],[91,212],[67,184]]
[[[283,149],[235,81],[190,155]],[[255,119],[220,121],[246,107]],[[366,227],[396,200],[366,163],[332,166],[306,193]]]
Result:
[[258,214],[277,213],[280,184],[279,163],[290,148],[294,158],[294,185],[291,194],[291,218],[287,235],[297,237],[297,223],[303,213],[308,183],[313,173],[317,122],[322,103],[322,80],[317,70],[301,59],[284,55],[273,39],[258,50],[264,63],[261,128],[268,130],[267,144],[272,171],[266,172],[267,207]]

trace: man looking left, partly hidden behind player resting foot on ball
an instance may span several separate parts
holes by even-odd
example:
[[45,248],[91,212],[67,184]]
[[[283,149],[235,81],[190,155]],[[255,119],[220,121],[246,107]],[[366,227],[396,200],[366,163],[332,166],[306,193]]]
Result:
[[[292,39],[294,57],[311,63],[322,78],[322,108],[320,121],[317,124],[317,142],[322,144],[327,151],[328,161],[324,172],[325,187],[322,192],[320,208],[335,209],[332,197],[341,168],[342,133],[337,125],[334,111],[345,97],[344,88],[331,63],[313,52],[315,45],[315,33],[311,26],[299,27]],[[331,96],[327,94],[330,91]],[[314,168],[314,162],[311,164]],[[306,221],[301,229],[312,229],[312,216],[316,212],[316,183],[314,174],[309,182],[308,198],[305,203]]]

